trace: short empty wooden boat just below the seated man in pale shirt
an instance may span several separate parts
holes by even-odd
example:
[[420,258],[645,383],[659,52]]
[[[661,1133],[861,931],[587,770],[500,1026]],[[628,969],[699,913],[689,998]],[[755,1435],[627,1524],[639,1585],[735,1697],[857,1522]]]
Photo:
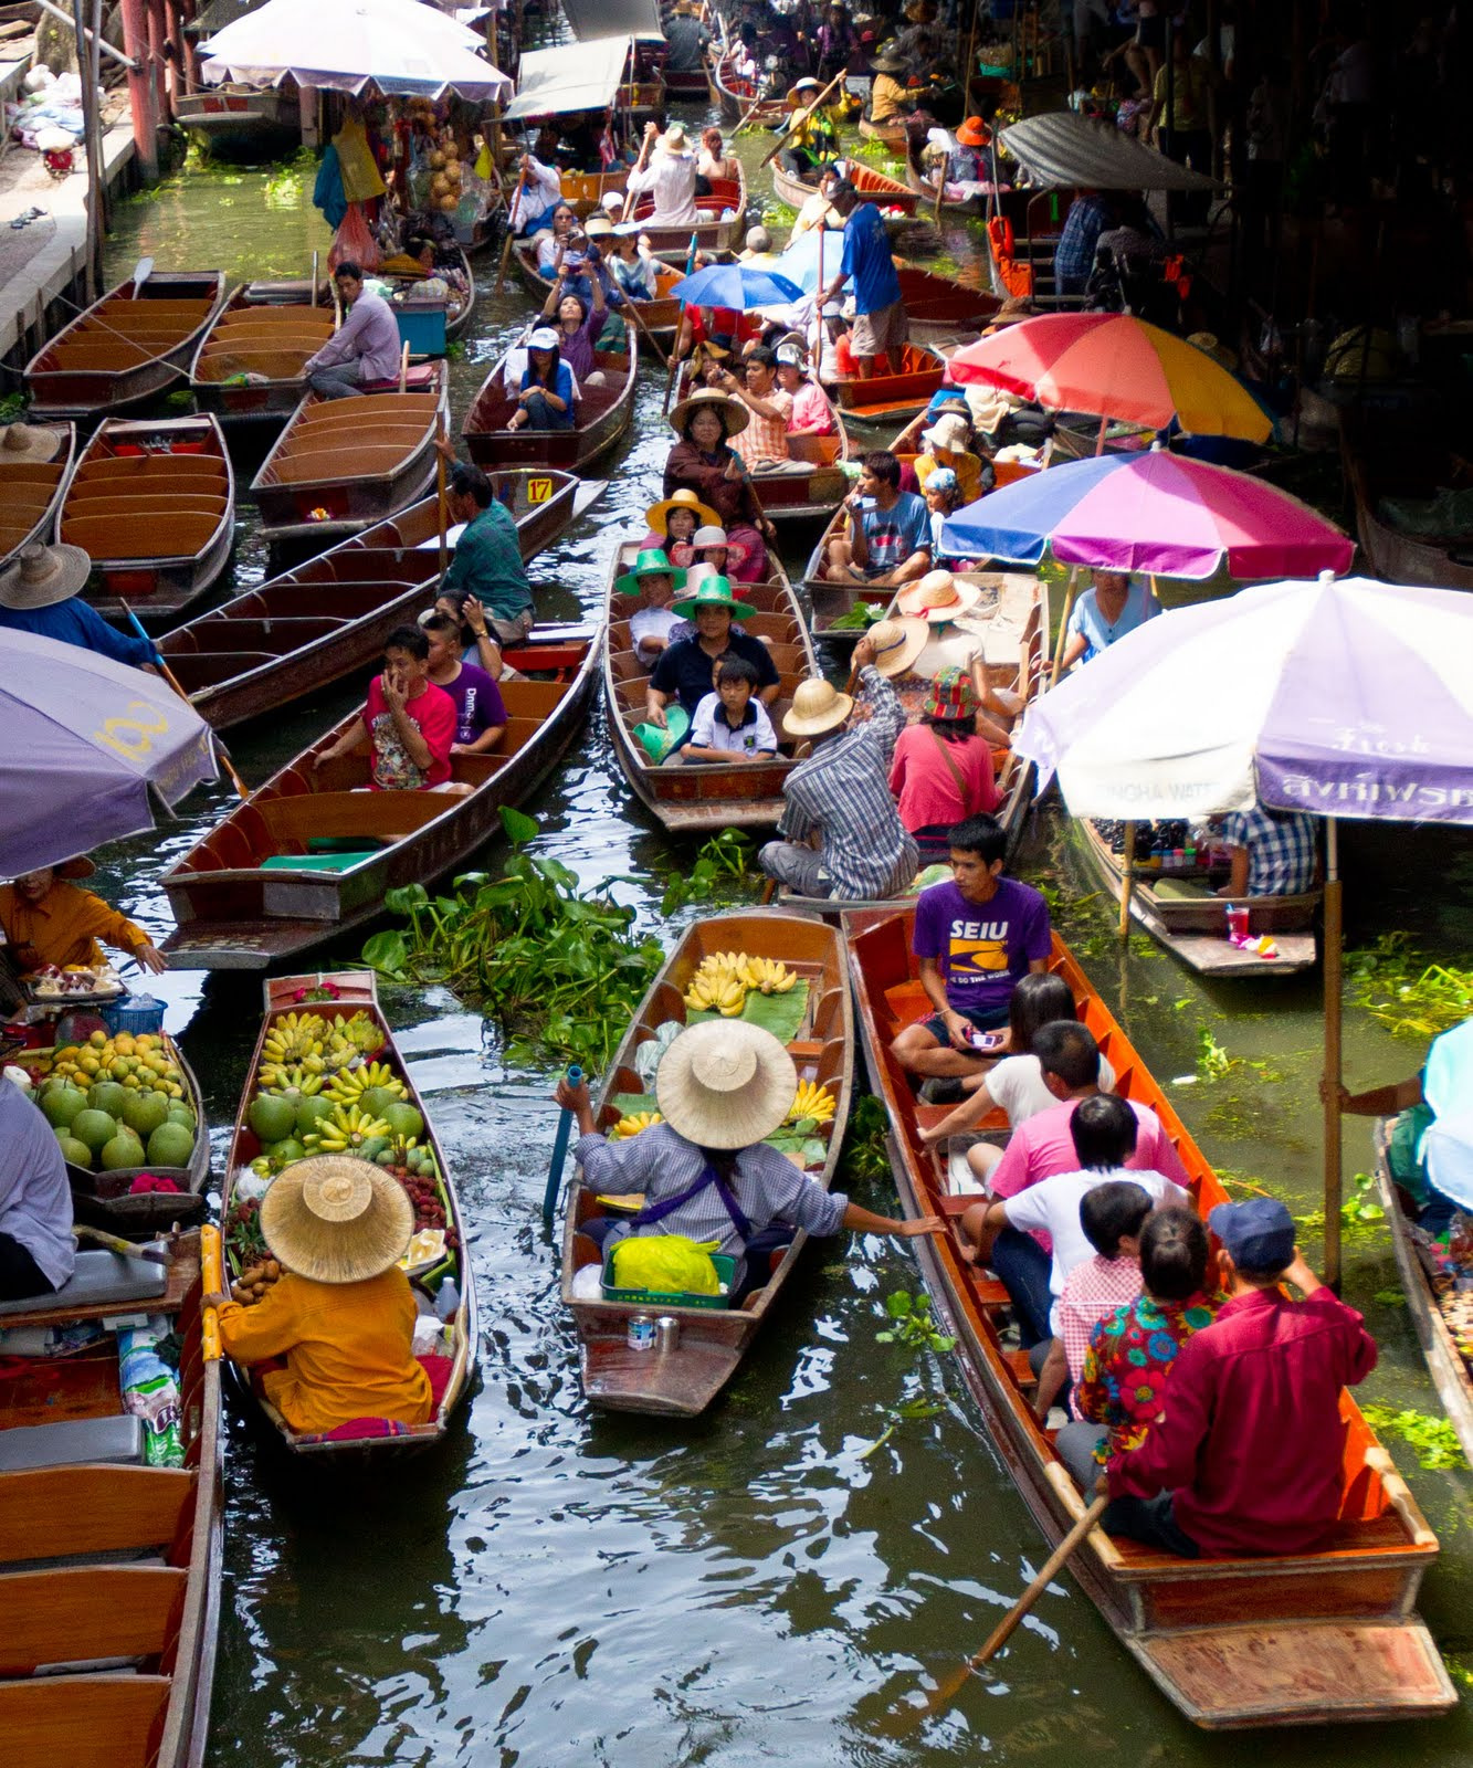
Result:
[[435,437],[449,431],[444,362],[410,371],[408,391],[352,400],[309,392],[251,479],[262,534],[329,545],[421,499],[435,481]]

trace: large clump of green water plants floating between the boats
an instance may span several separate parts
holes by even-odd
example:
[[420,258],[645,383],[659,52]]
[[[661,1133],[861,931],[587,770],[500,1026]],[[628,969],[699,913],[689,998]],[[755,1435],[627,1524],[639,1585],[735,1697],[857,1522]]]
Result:
[[566,866],[522,852],[538,833],[530,817],[502,810],[502,826],[515,852],[500,877],[470,872],[453,896],[421,884],[387,891],[384,905],[408,926],[375,934],[363,962],[476,1001],[511,1034],[513,1061],[598,1071],[660,969],[660,946],[633,937],[635,911],[607,895],[614,879],[578,891]]

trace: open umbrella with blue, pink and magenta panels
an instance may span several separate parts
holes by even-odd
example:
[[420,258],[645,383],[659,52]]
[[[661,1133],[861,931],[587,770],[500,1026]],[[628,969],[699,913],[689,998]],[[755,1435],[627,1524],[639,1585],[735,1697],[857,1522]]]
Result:
[[1098,571],[1240,582],[1335,576],[1355,541],[1277,486],[1167,454],[1100,454],[1049,467],[967,504],[941,534],[948,553]]

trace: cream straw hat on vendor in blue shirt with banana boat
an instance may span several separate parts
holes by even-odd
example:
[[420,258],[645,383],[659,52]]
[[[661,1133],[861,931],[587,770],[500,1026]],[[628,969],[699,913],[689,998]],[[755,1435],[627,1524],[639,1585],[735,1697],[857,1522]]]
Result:
[[739,1020],[683,1031],[654,1075],[665,1123],[697,1147],[752,1147],[778,1128],[796,1096],[792,1057],[771,1031]]

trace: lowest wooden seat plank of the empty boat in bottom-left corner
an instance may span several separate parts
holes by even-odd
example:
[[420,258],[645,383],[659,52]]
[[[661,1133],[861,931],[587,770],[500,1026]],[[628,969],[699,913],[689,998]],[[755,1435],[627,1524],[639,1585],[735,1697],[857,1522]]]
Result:
[[168,1676],[39,1676],[0,1681],[7,1768],[149,1768]]

